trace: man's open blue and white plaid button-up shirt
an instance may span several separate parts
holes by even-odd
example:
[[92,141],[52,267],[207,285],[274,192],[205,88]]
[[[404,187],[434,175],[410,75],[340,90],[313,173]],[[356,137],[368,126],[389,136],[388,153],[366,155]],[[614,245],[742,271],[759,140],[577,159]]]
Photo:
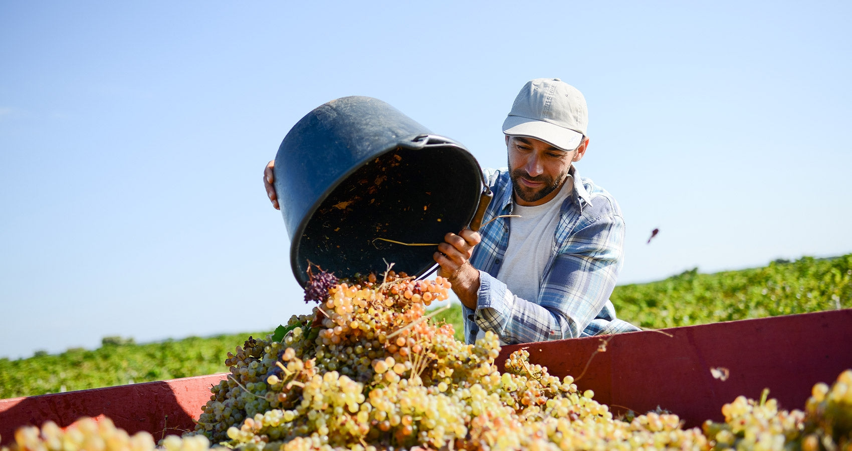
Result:
[[[572,167],[573,194],[561,205],[559,223],[538,281],[538,299],[513,295],[496,276],[509,246],[509,220],[480,229],[482,241],[470,263],[480,272],[475,310],[463,306],[464,337],[474,343],[480,328],[505,343],[529,343],[639,330],[615,317],[609,296],[624,256],[625,222],[612,195]],[[509,172],[486,170],[494,193],[482,223],[512,212]]]

